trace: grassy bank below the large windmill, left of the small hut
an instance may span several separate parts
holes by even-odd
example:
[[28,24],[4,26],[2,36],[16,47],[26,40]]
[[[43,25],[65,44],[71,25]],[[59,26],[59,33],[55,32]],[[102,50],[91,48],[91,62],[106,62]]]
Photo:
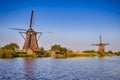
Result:
[[50,53],[47,51],[40,52],[39,54],[33,53],[33,54],[27,54],[26,52],[16,52],[15,50],[7,50],[7,49],[1,49],[0,50],[0,58],[16,58],[16,57],[50,57]]

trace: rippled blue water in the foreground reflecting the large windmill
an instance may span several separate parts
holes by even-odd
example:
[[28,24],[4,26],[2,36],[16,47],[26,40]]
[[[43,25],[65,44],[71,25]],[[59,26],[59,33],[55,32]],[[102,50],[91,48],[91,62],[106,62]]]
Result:
[[0,80],[120,80],[120,57],[0,59]]

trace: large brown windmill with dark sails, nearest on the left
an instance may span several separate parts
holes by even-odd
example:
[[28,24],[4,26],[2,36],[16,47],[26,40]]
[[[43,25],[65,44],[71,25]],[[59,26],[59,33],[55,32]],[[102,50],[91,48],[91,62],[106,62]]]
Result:
[[[10,28],[14,30],[25,31],[25,32],[20,32],[20,34],[25,40],[23,45],[23,51],[27,53],[39,53],[40,49],[38,46],[38,40],[40,39],[40,36],[43,33],[43,32],[36,32],[33,30],[32,28],[33,14],[34,14],[34,11],[32,10],[29,29],[26,30],[26,29]],[[23,36],[23,33],[26,34],[26,37]],[[48,33],[51,33],[51,32],[48,32]],[[39,34],[38,39],[37,39],[37,34]]]

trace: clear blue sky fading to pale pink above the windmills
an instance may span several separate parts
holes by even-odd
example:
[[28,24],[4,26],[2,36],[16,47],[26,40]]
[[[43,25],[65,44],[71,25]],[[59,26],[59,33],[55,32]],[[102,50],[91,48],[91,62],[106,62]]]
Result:
[[120,0],[0,0],[0,46],[24,39],[20,31],[28,29],[34,10],[33,29],[43,33],[39,47],[54,44],[74,51],[97,50],[99,35],[106,51],[120,51]]

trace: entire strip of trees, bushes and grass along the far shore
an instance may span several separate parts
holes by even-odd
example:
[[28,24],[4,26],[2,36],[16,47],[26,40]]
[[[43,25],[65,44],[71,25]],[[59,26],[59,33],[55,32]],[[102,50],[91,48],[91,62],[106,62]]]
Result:
[[40,53],[28,54],[19,50],[16,43],[10,43],[0,48],[0,58],[16,58],[16,57],[51,57],[51,58],[74,58],[74,57],[105,57],[105,56],[120,56],[119,52],[98,52],[95,50],[85,50],[82,52],[74,52],[60,45],[53,45],[51,49],[46,51],[43,47],[40,48]]

